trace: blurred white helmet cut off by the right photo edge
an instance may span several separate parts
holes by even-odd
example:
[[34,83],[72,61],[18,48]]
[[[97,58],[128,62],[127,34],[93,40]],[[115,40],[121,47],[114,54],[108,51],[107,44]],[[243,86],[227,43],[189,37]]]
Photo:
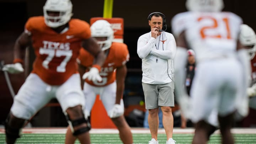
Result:
[[239,41],[242,44],[242,46],[247,46],[245,47],[245,49],[247,50],[247,53],[249,54],[250,59],[253,59],[256,53],[256,45],[255,45],[256,34],[251,27],[245,24],[242,24],[240,26],[240,29],[241,31],[240,31]]

